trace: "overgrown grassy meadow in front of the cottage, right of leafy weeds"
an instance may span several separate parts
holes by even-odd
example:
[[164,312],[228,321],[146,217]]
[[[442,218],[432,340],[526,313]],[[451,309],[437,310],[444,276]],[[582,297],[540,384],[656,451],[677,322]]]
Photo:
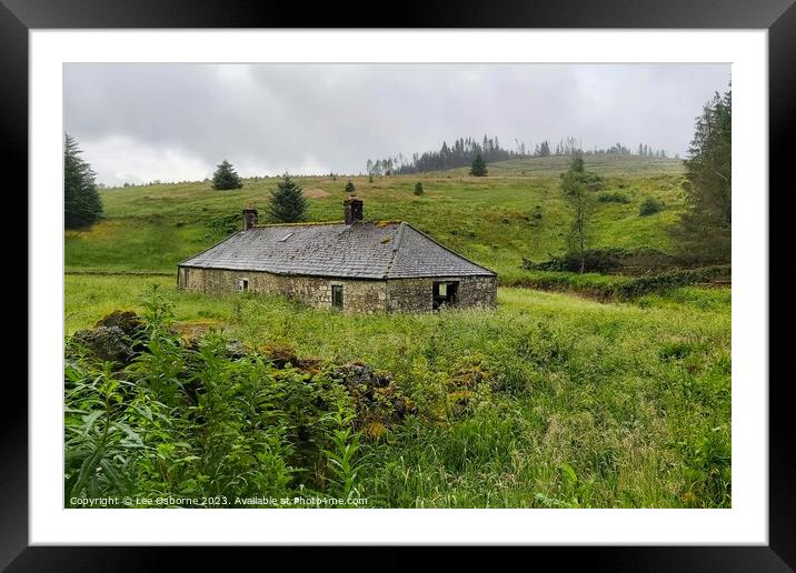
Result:
[[[372,505],[730,504],[728,289],[600,304],[501,288],[494,312],[348,315],[153,281],[182,329],[392,373],[418,414],[366,440],[356,480],[338,480]],[[67,332],[141,309],[148,282],[68,275]]]

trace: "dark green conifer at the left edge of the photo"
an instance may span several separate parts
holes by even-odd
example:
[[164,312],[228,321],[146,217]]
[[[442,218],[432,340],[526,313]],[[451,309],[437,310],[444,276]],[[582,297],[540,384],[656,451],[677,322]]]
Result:
[[64,134],[63,143],[63,224],[67,229],[90,225],[102,215],[102,199],[91,165],[79,155],[78,142]]

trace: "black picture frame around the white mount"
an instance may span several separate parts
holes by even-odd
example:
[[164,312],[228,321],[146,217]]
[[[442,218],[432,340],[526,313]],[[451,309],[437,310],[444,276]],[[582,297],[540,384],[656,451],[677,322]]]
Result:
[[[330,2],[311,9],[300,3],[231,0],[0,0],[0,130],[7,143],[4,162],[28,163],[28,32],[31,29],[115,28],[613,28],[613,29],[767,29],[769,78],[770,187],[789,180],[796,127],[796,6],[794,0],[601,0],[519,2],[417,2],[392,10],[389,20],[374,6]],[[386,18],[386,17],[385,17]],[[27,170],[17,169],[17,189],[28,189]],[[793,183],[783,187],[790,190]],[[766,192],[759,190],[758,192]],[[770,194],[769,194],[770,197]],[[21,201],[21,211],[28,212]],[[769,211],[775,213],[776,211]],[[29,224],[33,223],[28,213]],[[773,228],[773,222],[769,223]],[[776,244],[769,241],[774,255]],[[27,264],[27,262],[26,262]],[[770,279],[769,279],[770,281]],[[27,288],[27,282],[24,283]],[[21,285],[17,284],[17,291]],[[777,291],[770,288],[772,295]],[[21,293],[20,293],[21,294]],[[28,300],[29,306],[36,301]],[[769,336],[772,344],[780,339]],[[785,341],[783,341],[785,342]],[[30,341],[34,343],[34,341]],[[769,355],[775,355],[769,351]],[[533,547],[539,565],[548,559],[610,571],[793,571],[796,567],[796,432],[787,400],[790,376],[769,376],[769,544],[767,546],[624,546]],[[760,381],[764,382],[764,381]],[[28,543],[28,399],[23,389],[14,409],[1,418],[0,567],[8,571],[148,571],[176,554],[181,569],[207,569],[205,547],[29,546]],[[236,549],[241,560],[256,550]],[[240,553],[245,551],[246,554]],[[272,552],[273,547],[267,547]],[[309,565],[307,552],[288,549]],[[398,550],[392,549],[391,552]],[[458,553],[469,560],[469,552]],[[410,564],[407,557],[379,556],[367,550],[321,552],[324,563],[361,560],[369,566]],[[521,559],[526,560],[527,556]],[[454,559],[455,561],[455,559]],[[450,562],[454,565],[454,561]],[[402,569],[402,567],[401,567]]]

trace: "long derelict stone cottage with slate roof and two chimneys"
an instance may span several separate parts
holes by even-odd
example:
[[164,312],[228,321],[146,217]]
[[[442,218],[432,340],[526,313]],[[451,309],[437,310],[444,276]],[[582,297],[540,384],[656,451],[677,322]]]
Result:
[[362,201],[344,222],[257,224],[178,267],[180,289],[280,292],[312,306],[352,312],[494,308],[497,274],[404,221],[364,221]]

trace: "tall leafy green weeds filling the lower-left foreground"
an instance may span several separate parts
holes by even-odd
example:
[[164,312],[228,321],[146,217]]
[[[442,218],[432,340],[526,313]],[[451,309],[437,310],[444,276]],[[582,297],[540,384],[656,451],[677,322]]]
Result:
[[275,364],[219,333],[183,341],[157,284],[142,304],[142,323],[105,332],[138,349],[121,363],[99,361],[87,339],[68,341],[66,506],[359,496],[357,410],[341,374]]

